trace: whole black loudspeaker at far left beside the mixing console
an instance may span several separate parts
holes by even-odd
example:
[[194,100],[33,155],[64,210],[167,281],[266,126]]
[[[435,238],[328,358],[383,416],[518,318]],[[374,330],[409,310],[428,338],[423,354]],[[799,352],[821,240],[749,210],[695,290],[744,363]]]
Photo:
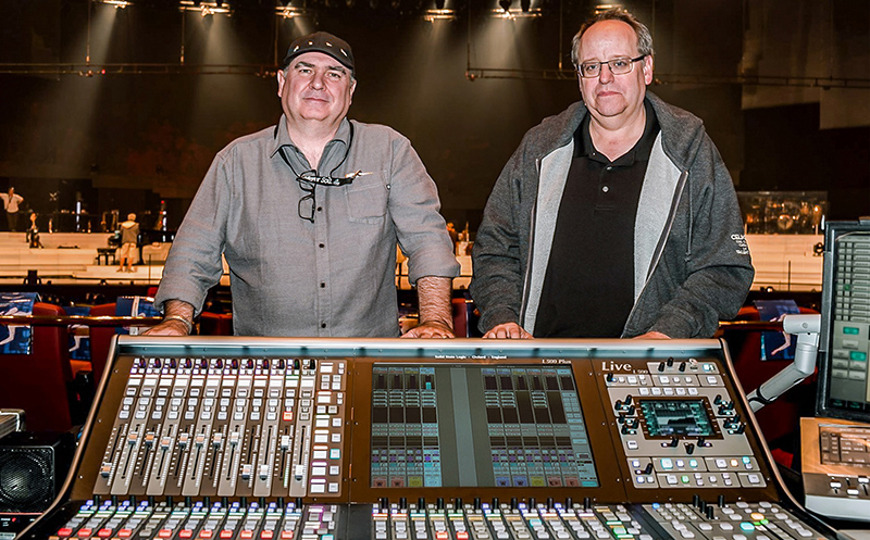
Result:
[[16,431],[0,439],[0,512],[41,513],[66,479],[72,434]]

